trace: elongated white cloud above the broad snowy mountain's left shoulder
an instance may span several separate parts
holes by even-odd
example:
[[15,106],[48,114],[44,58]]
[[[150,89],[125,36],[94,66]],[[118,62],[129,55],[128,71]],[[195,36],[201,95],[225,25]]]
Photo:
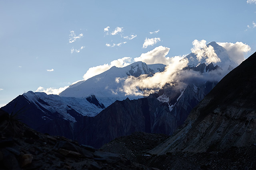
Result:
[[117,59],[117,60],[112,61],[110,64],[104,64],[104,65],[91,67],[84,74],[83,78],[84,78],[84,80],[87,80],[88,78],[96,76],[96,75],[110,69],[112,66],[116,66],[116,67],[128,66],[131,63],[131,59],[132,59],[131,57],[123,57],[122,59]]

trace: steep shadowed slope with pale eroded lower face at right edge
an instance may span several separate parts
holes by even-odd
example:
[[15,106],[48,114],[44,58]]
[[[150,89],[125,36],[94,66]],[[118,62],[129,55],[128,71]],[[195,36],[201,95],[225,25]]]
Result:
[[256,143],[256,53],[227,74],[181,129],[151,151],[206,152]]

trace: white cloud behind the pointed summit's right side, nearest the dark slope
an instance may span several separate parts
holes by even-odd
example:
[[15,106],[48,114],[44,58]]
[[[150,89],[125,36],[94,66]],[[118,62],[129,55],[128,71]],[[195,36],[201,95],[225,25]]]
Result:
[[245,60],[244,54],[251,50],[249,45],[242,42],[217,44],[224,47],[227,50],[229,57],[238,64]]

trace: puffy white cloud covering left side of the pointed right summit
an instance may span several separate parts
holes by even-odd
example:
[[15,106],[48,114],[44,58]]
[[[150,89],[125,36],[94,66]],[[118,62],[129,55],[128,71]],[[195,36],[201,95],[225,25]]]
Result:
[[216,55],[214,48],[211,45],[207,47],[204,39],[201,41],[195,39],[192,44],[191,52],[196,54],[198,61],[205,59],[206,64],[220,62],[220,58]]

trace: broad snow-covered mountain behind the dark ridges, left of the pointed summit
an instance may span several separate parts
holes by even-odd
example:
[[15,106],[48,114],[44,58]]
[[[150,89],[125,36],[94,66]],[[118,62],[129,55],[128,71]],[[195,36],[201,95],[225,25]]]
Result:
[[[84,98],[90,95],[95,95],[97,98],[101,98],[103,103],[113,103],[116,100],[124,100],[127,98],[124,93],[118,92],[118,88],[121,84],[116,82],[116,78],[125,78],[127,76],[138,77],[142,74],[148,74],[152,76],[156,72],[164,71],[164,64],[146,64],[141,61],[132,63],[126,67],[118,68],[116,66],[111,67],[109,70],[98,74],[88,80],[83,80],[76,84],[71,85],[69,88],[59,94],[62,97],[75,97]],[[142,97],[142,96],[140,96]],[[129,96],[129,98],[138,98],[137,96]]]

